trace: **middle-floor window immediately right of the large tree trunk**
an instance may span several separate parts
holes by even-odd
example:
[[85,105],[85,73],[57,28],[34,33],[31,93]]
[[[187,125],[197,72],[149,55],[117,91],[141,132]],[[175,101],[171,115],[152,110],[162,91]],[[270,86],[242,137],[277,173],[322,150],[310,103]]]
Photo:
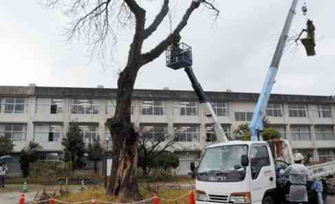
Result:
[[144,139],[150,141],[164,141],[167,132],[166,126],[160,125],[141,125],[140,133]]

